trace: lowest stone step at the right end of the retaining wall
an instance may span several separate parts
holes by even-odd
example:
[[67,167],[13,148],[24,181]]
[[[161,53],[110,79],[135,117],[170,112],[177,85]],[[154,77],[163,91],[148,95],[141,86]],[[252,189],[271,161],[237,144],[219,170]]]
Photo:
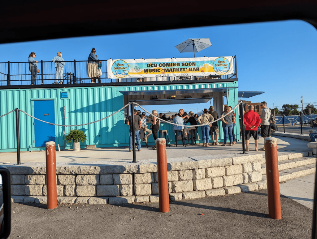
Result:
[[[285,182],[294,178],[303,177],[316,172],[316,163],[299,166],[292,169],[285,169],[279,172],[280,182]],[[266,182],[266,175],[262,175],[262,181]],[[258,183],[260,183],[258,182]]]

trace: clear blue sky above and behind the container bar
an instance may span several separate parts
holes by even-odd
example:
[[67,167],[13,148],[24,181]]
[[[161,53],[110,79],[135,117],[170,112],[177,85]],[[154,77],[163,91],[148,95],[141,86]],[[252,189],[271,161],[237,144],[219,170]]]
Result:
[[[212,46],[195,53],[196,57],[237,55],[239,90],[265,91],[245,100],[266,101],[271,108],[275,103],[281,109],[282,104],[300,104],[302,95],[304,103],[317,105],[317,31],[297,20],[1,44],[0,62],[27,61],[31,51],[38,61],[50,61],[57,51],[65,60],[87,60],[92,47],[103,60],[193,57],[174,46],[187,38],[204,37],[210,38]],[[183,108],[188,112],[209,106],[187,104]],[[155,108],[176,111],[180,105]]]

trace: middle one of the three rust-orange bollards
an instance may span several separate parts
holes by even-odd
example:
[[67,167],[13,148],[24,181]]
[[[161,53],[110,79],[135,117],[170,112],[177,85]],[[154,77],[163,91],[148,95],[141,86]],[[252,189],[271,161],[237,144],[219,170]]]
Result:
[[166,161],[166,140],[165,138],[156,139],[158,178],[159,178],[159,211],[169,212],[170,202],[168,195],[167,181],[167,161]]

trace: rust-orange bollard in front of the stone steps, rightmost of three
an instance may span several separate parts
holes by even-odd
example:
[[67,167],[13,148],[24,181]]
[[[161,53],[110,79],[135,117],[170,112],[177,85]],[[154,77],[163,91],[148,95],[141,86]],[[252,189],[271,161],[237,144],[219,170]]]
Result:
[[278,174],[277,139],[266,137],[265,163],[266,181],[268,185],[268,216],[273,219],[281,219],[280,180]]

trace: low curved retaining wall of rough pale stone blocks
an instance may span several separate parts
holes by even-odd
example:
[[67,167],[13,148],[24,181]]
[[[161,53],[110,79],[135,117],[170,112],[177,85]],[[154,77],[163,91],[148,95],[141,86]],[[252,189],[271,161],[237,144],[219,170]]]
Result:
[[[168,159],[171,200],[261,189],[261,183],[255,182],[262,180],[262,158],[262,154],[226,154]],[[12,174],[13,201],[46,203],[44,166],[12,165],[6,168]],[[56,171],[59,203],[158,201],[158,174],[154,161],[126,165],[57,165]]]

